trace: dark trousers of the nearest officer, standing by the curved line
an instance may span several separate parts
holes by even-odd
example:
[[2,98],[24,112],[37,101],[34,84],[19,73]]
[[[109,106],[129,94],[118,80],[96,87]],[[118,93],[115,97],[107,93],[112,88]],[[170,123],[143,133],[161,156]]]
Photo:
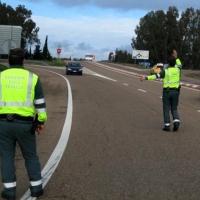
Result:
[[[32,122],[14,120],[12,122],[6,119],[0,119],[0,153],[1,153],[1,174],[5,190],[8,189],[9,195],[13,195],[16,183],[15,174],[15,148],[18,142],[25,166],[28,172],[30,182],[42,180],[41,167],[36,152],[36,136],[32,134]],[[13,184],[14,186],[15,184]]]

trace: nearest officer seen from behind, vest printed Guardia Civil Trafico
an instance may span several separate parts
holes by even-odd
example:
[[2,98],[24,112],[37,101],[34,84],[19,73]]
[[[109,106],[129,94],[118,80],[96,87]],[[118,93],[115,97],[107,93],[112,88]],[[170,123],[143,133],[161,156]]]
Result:
[[0,73],[0,153],[4,184],[1,196],[16,199],[14,157],[18,142],[25,159],[31,196],[38,197],[43,194],[43,187],[35,132],[40,134],[47,120],[44,93],[38,76],[23,67],[22,49],[11,49],[8,62],[10,67]]

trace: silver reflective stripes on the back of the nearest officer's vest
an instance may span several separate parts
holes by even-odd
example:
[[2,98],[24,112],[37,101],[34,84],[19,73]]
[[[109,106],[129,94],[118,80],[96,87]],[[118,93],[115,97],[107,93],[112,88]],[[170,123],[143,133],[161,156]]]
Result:
[[[1,83],[1,75],[0,75],[0,83]],[[20,107],[33,107],[34,104],[31,102],[31,89],[33,84],[33,73],[29,72],[28,77],[28,88],[27,88],[27,96],[26,102],[3,102],[2,98],[0,98],[0,106],[1,107],[11,107],[11,106],[20,106]],[[2,97],[2,87],[0,87],[0,97]]]

